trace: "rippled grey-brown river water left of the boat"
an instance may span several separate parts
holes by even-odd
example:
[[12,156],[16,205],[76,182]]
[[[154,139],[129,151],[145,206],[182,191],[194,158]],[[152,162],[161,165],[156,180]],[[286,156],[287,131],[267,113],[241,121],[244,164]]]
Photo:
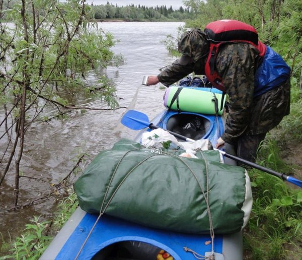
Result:
[[[161,43],[168,34],[177,37],[177,28],[184,23],[140,23],[111,22],[99,23],[104,31],[109,31],[119,42],[112,51],[121,53],[127,63],[119,68],[108,67],[106,75],[116,84],[119,105],[135,109],[148,115],[151,119],[163,108],[163,85],[141,85],[144,75],[158,74],[159,69],[167,66],[175,58],[170,56]],[[93,74],[88,80],[94,84],[97,80]],[[76,95],[76,106],[106,108],[99,100]],[[1,112],[3,112],[1,110]],[[28,131],[22,160],[25,176],[42,179],[20,178],[20,204],[47,194],[52,183],[58,183],[73,168],[79,154],[86,152],[89,161],[101,150],[110,148],[121,138],[132,139],[137,132],[121,125],[120,120],[126,109],[115,111],[87,110],[85,113],[71,111],[63,120],[38,122]],[[3,131],[3,129],[2,129]],[[2,147],[5,144],[2,143]],[[1,148],[3,149],[3,148]],[[4,151],[1,152],[3,154]],[[84,165],[85,167],[85,165]],[[0,165],[3,171],[3,165]],[[80,175],[81,173],[79,173]],[[77,176],[73,177],[76,178]],[[0,211],[13,205],[14,170],[5,178],[0,187]],[[5,240],[15,237],[24,229],[34,215],[43,219],[51,217],[56,207],[56,200],[51,199],[34,206],[0,214],[0,232]],[[2,244],[0,238],[0,246]],[[0,254],[1,255],[1,254]]]

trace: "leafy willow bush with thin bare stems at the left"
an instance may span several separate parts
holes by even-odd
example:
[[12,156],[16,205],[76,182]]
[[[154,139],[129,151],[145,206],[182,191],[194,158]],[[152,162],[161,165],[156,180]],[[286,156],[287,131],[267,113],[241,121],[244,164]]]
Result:
[[16,206],[28,129],[43,120],[46,107],[57,114],[76,109],[63,95],[74,88],[98,95],[117,109],[115,88],[106,77],[99,77],[96,86],[88,85],[86,78],[122,57],[110,50],[112,35],[89,23],[91,7],[84,0],[7,0],[0,8],[0,142],[5,144],[0,186],[8,172],[15,174]]

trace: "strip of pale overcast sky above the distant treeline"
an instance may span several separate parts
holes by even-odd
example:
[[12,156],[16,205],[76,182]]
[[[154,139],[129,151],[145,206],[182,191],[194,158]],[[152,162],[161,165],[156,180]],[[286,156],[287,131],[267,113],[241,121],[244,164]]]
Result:
[[94,5],[106,5],[109,2],[112,5],[116,5],[118,7],[131,5],[134,6],[145,6],[145,7],[156,7],[156,6],[166,6],[170,8],[172,6],[173,9],[179,9],[180,6],[185,7],[182,3],[182,0],[87,0],[88,4],[93,3]]

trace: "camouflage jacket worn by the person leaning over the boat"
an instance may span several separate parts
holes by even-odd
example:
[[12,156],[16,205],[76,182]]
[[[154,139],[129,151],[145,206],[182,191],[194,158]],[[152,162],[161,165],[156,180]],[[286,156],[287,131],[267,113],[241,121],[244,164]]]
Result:
[[[254,98],[254,75],[258,62],[258,50],[251,44],[224,44],[217,54],[215,68],[230,102],[221,136],[227,143],[234,144],[243,134],[266,133],[289,113],[289,82],[283,84],[281,92],[274,89]],[[168,87],[192,72],[204,75],[204,64],[205,60],[198,60],[184,66],[176,60],[158,77]]]

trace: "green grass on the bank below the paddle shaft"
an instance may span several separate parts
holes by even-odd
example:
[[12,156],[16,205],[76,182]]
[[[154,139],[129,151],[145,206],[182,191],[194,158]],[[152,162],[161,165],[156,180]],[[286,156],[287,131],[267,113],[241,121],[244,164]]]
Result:
[[250,259],[300,259],[302,191],[277,177],[250,170],[253,208],[244,247]]

